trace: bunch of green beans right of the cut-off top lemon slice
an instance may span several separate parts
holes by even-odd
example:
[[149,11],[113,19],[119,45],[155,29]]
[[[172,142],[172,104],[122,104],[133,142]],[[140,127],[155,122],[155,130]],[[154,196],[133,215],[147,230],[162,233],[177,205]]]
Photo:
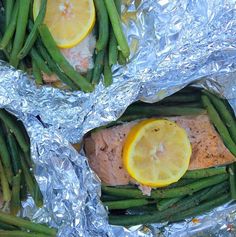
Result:
[[107,87],[112,84],[112,66],[119,62],[119,57],[124,58],[126,63],[130,49],[122,30],[120,0],[94,0],[94,4],[98,21],[98,40],[95,66],[88,73],[88,78],[96,85],[103,74],[103,84]]

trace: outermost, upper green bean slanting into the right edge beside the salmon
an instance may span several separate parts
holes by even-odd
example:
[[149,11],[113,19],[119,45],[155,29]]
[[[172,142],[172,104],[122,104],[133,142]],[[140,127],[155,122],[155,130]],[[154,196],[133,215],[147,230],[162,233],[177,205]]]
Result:
[[204,91],[204,94],[208,96],[210,101],[212,102],[213,106],[219,113],[221,119],[224,121],[224,124],[228,128],[230,135],[232,136],[233,141],[236,144],[236,119],[227,109],[226,105],[224,104],[223,100],[216,97],[215,95]]

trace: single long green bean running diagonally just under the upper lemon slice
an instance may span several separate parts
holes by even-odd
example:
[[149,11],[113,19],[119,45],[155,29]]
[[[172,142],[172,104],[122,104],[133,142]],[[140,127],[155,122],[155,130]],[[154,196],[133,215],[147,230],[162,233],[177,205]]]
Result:
[[66,61],[64,56],[61,54],[47,26],[44,24],[40,25],[39,32],[44,46],[48,50],[52,59],[55,61],[55,63],[59,65],[59,67],[64,71],[64,73],[84,92],[93,91],[93,86],[86,80],[86,78],[82,77],[79,73],[77,73],[70,65],[70,63]]

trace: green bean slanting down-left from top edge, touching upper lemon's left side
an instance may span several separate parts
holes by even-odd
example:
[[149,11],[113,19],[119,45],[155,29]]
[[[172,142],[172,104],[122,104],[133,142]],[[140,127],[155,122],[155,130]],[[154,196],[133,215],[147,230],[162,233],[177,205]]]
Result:
[[23,48],[17,55],[17,57],[19,59],[24,58],[29,53],[31,48],[33,47],[33,45],[37,39],[38,27],[39,27],[39,25],[42,24],[42,22],[44,20],[44,17],[46,14],[46,8],[47,8],[47,0],[41,0],[39,14],[34,22],[34,26],[33,26],[32,30],[30,31]]

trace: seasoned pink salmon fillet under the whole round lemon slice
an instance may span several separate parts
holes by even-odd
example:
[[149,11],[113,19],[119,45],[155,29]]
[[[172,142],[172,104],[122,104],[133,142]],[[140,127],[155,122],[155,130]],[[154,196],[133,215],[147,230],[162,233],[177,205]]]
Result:
[[[189,170],[232,163],[235,157],[225,147],[207,115],[168,117],[184,128],[192,145]],[[130,129],[129,122],[92,133],[85,138],[84,148],[91,168],[108,185],[133,182],[122,164],[122,149]]]

